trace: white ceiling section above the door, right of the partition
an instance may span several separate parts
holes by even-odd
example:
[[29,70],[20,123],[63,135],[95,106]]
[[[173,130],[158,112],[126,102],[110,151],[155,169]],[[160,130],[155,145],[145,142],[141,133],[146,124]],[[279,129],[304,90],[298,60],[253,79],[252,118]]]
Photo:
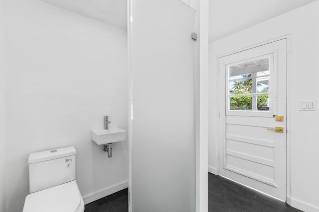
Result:
[[316,0],[209,0],[209,42]]

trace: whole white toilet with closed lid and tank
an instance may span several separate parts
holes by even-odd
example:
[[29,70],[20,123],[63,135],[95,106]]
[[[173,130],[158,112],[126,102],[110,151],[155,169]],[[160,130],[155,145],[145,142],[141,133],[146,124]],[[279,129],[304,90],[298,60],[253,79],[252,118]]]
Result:
[[29,154],[30,194],[23,212],[84,212],[84,202],[75,181],[75,148]]

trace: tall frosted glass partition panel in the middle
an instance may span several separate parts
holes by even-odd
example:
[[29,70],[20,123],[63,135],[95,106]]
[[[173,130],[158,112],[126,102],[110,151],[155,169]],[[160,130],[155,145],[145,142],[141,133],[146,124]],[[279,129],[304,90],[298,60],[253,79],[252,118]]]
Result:
[[133,212],[195,211],[195,11],[131,0]]

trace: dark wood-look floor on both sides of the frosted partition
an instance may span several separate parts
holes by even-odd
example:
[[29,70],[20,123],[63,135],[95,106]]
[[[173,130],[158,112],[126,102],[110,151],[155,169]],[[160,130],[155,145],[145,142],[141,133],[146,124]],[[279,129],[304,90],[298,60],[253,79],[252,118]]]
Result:
[[[128,189],[85,205],[85,212],[127,212]],[[301,212],[284,202],[208,173],[208,212]]]

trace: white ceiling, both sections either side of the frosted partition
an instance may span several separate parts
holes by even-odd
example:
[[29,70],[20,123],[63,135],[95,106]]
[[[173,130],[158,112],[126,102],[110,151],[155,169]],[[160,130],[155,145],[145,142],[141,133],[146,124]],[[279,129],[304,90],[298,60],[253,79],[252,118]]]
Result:
[[[43,0],[127,28],[127,0]],[[209,0],[209,41],[215,41],[316,0]]]

